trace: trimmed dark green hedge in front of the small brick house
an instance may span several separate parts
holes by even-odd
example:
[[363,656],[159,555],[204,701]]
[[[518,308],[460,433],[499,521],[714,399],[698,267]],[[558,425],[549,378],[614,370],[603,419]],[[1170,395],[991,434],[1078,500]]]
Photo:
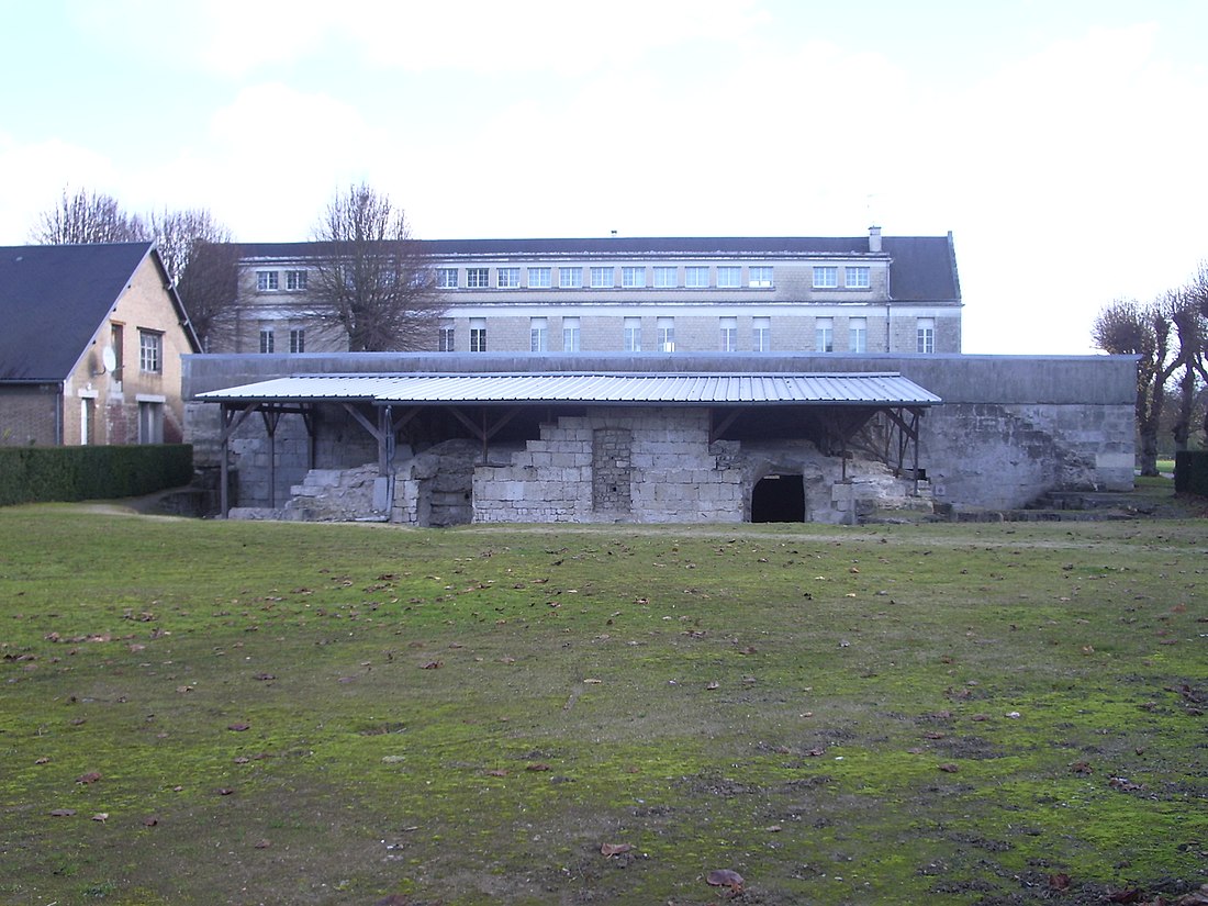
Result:
[[0,506],[140,496],[192,478],[188,443],[0,447]]

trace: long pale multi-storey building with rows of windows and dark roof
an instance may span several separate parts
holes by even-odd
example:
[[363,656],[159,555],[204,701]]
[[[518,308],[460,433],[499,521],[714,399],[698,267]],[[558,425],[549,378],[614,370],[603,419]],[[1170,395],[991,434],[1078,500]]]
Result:
[[[959,353],[952,234],[422,240],[440,353]],[[316,243],[239,244],[214,353],[347,352],[312,315]]]

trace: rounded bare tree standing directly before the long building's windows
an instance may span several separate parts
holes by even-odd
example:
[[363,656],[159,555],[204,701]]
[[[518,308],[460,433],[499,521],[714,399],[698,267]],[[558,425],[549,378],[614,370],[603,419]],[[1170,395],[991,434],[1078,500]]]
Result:
[[353,186],[329,203],[314,239],[309,316],[341,327],[353,352],[431,348],[442,304],[402,209]]

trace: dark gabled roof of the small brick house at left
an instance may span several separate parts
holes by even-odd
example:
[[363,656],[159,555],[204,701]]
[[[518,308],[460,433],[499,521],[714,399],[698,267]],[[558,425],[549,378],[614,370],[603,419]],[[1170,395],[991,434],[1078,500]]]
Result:
[[[151,243],[0,248],[0,382],[64,381],[147,256]],[[178,318],[198,349],[175,290]]]

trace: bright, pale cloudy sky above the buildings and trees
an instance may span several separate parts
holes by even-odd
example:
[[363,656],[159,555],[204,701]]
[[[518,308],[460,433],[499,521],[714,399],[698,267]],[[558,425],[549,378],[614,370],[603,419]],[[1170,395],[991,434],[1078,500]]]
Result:
[[964,352],[1208,261],[1204,0],[0,0],[0,245],[64,190],[309,239],[953,234]]

